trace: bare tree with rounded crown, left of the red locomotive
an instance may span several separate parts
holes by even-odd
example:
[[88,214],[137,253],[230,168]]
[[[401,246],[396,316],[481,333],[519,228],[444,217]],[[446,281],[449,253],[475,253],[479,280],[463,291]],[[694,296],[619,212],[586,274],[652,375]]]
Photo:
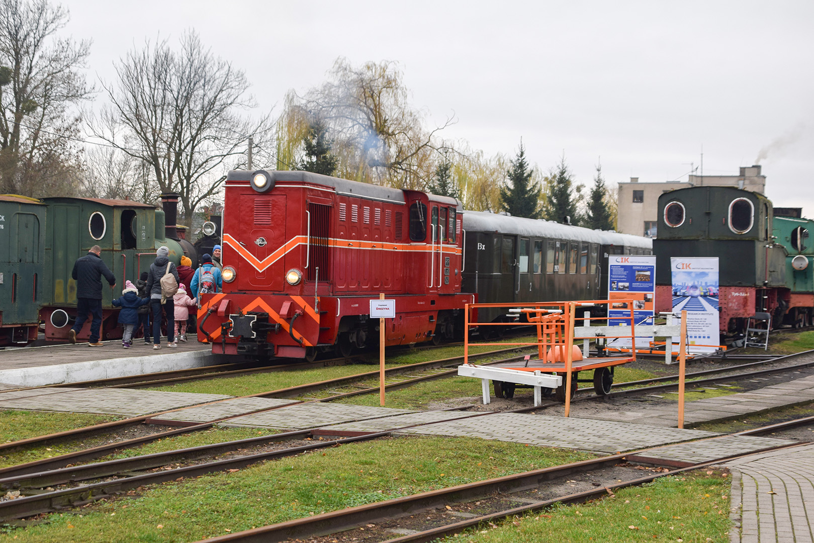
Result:
[[181,50],[166,40],[131,51],[103,83],[110,105],[91,125],[125,154],[146,164],[161,192],[181,195],[186,224],[217,194],[228,169],[246,164],[247,140],[268,145],[269,116],[240,115],[256,107],[243,71],[205,50],[194,31]]

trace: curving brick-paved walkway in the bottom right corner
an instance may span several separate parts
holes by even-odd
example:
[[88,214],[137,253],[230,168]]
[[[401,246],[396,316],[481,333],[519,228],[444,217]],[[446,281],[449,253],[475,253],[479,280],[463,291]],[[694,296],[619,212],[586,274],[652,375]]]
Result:
[[732,543],[814,541],[814,444],[753,454],[732,470]]

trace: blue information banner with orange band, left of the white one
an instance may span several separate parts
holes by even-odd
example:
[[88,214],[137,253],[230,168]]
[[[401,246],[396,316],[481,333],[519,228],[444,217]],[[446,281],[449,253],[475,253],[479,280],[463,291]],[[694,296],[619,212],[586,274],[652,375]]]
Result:
[[[608,256],[608,300],[611,300],[608,326],[629,326],[631,309],[634,324],[652,325],[655,291],[655,256]],[[651,341],[652,337],[637,336],[637,348],[650,348]],[[629,338],[615,339],[609,347],[630,348],[632,341]]]

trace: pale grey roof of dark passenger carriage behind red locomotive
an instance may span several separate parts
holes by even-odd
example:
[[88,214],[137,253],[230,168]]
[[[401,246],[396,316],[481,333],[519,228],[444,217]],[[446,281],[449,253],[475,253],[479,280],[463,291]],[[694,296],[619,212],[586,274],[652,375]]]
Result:
[[469,232],[500,232],[552,239],[575,239],[602,245],[626,247],[653,246],[653,240],[631,234],[591,230],[581,226],[563,225],[554,221],[541,221],[525,217],[510,217],[499,213],[467,211],[463,214],[463,227]]

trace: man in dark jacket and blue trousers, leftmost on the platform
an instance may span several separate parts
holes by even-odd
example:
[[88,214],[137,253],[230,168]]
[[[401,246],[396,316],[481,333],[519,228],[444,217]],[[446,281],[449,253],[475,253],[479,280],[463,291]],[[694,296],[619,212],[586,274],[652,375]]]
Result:
[[101,347],[99,341],[99,328],[102,326],[102,276],[110,283],[110,287],[116,287],[116,278],[113,272],[107,268],[102,261],[102,247],[94,245],[85,256],[80,256],[73,264],[71,277],[77,282],[77,322],[73,323],[68,331],[68,341],[77,343],[77,333],[81,331],[85,321],[88,320],[88,313],[93,317],[90,322],[90,347]]

